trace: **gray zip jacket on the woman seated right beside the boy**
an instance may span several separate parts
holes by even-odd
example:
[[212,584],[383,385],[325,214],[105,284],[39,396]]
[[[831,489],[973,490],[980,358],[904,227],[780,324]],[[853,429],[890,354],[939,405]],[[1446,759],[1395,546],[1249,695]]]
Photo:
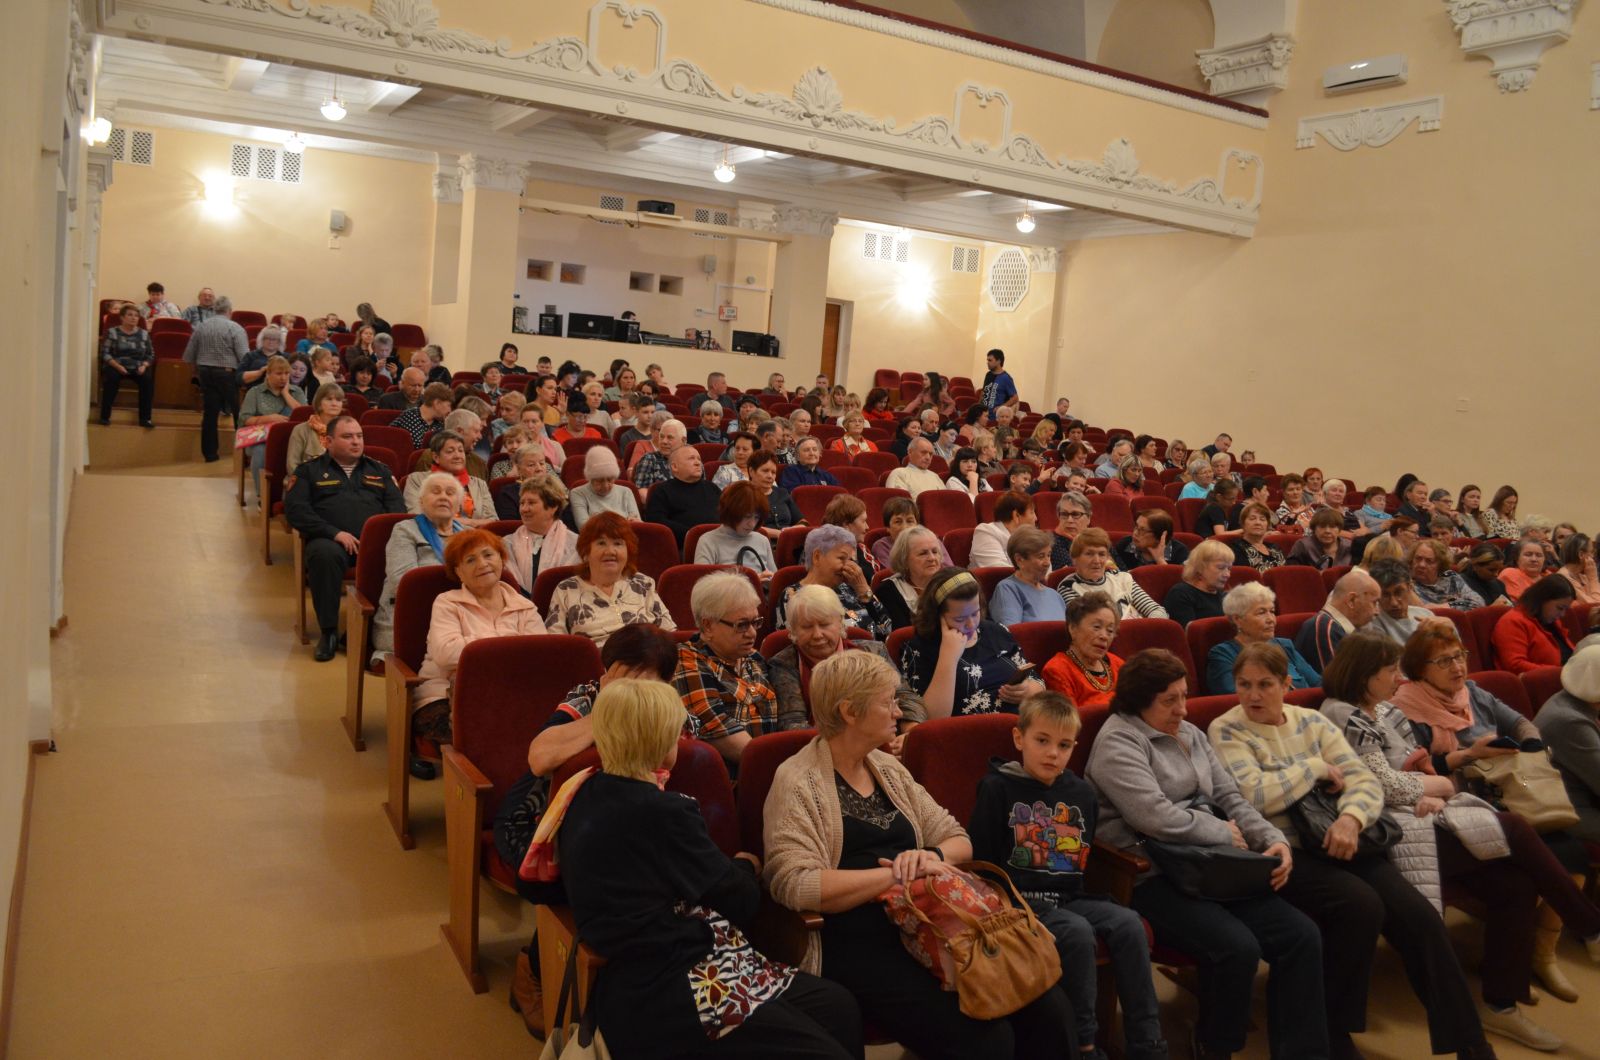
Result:
[[1114,847],[1142,852],[1144,836],[1195,845],[1232,842],[1224,821],[1189,809],[1197,794],[1238,825],[1251,850],[1286,842],[1238,793],[1205,733],[1189,722],[1170,737],[1133,714],[1112,714],[1094,737],[1083,777],[1099,794],[1096,839]]

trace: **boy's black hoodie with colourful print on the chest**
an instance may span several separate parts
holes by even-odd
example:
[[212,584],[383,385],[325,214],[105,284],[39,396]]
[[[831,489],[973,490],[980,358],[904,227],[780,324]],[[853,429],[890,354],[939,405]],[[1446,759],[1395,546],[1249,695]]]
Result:
[[992,759],[966,834],[973,858],[1003,865],[1018,890],[1072,897],[1083,887],[1098,813],[1094,788],[1070,769],[1042,785],[1021,762]]

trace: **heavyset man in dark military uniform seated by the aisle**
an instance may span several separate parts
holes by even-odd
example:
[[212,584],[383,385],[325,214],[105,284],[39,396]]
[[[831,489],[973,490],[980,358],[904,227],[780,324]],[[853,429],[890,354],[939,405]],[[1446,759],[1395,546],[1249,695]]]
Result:
[[328,424],[328,450],[294,469],[283,495],[290,525],[306,535],[306,583],[317,608],[317,661],[339,650],[339,599],[344,572],[355,564],[362,527],[370,516],[403,512],[405,498],[389,468],[362,455],[366,447],[355,416]]

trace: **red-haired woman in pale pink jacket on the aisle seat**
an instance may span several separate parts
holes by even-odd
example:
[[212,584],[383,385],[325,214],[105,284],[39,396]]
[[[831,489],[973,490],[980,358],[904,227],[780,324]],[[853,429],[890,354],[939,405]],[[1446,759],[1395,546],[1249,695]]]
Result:
[[506,543],[483,528],[462,530],[445,546],[445,568],[461,588],[434,600],[427,656],[411,693],[411,732],[419,740],[450,743],[450,685],[462,648],[483,637],[546,632],[533,600],[501,581],[506,559]]

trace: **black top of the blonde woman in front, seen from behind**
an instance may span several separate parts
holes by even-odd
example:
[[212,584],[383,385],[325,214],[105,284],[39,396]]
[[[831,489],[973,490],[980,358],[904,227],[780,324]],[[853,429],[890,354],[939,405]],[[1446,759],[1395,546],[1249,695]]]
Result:
[[578,789],[557,834],[578,937],[606,959],[594,1004],[611,1055],[704,1049],[688,970],[712,951],[712,932],[680,906],[749,930],[760,903],[749,863],[717,849],[694,799],[610,773]]

